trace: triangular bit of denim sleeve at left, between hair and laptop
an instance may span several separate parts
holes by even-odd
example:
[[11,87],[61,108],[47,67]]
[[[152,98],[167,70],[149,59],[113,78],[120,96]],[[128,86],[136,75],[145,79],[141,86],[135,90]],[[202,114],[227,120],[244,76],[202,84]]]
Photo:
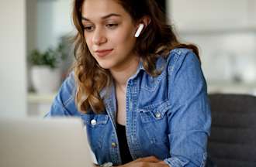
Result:
[[50,111],[45,115],[45,118],[79,116],[80,114],[78,113],[74,102],[75,92],[74,73],[70,73],[62,83],[61,88],[50,107]]

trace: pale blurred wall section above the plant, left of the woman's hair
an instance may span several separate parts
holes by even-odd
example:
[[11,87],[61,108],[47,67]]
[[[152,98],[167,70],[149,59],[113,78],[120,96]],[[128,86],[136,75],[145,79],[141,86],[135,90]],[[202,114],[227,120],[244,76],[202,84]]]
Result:
[[37,48],[44,51],[57,45],[61,36],[70,34],[71,0],[37,1]]

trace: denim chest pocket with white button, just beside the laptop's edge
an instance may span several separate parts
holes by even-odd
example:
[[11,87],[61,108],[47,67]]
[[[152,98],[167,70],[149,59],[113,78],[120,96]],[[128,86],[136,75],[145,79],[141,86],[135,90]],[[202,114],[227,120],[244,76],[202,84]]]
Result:
[[106,124],[109,121],[107,114],[81,114],[81,118],[86,126],[86,131],[92,151],[95,148],[102,147],[102,141],[105,137]]

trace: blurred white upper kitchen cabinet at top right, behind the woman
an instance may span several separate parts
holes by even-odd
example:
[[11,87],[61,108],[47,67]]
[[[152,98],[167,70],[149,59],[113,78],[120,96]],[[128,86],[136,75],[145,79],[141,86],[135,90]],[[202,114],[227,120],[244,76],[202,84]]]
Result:
[[248,6],[248,0],[172,0],[168,14],[182,30],[244,27],[250,22]]

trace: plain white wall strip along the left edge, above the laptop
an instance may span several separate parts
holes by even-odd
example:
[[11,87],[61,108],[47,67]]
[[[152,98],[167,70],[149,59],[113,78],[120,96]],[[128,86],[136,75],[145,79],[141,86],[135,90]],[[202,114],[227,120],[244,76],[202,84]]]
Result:
[[0,117],[25,117],[26,0],[1,0],[0,22]]

